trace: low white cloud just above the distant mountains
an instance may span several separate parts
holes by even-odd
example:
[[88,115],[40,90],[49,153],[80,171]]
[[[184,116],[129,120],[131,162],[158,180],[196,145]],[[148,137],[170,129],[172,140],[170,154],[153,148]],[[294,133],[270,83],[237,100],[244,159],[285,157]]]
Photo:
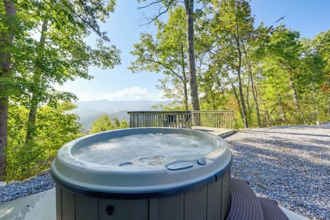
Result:
[[116,91],[115,93],[105,93],[100,99],[103,100],[164,100],[162,98],[162,92],[151,93],[146,88],[141,87],[131,87],[123,89],[121,91]]

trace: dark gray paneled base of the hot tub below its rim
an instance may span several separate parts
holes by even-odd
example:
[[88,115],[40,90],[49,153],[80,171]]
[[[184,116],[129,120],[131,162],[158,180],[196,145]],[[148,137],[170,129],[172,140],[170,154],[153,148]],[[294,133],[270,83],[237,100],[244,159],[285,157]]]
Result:
[[219,220],[230,206],[230,170],[196,190],[151,199],[87,197],[56,186],[56,220]]

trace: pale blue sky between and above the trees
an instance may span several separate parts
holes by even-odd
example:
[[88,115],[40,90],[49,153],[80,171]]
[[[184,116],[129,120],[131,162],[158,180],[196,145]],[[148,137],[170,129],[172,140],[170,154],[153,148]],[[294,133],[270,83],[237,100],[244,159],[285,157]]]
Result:
[[[129,52],[133,50],[134,43],[139,43],[140,33],[155,33],[152,25],[141,26],[145,22],[144,14],[150,15],[150,10],[137,10],[137,6],[135,0],[117,0],[114,14],[101,25],[102,30],[107,31],[111,44],[121,50],[122,64],[106,70],[90,67],[89,74],[94,79],[77,79],[62,87],[56,86],[56,89],[72,91],[80,101],[161,99],[162,92],[155,85],[162,74],[132,74],[127,69],[134,60]],[[281,23],[309,39],[330,29],[330,0],[252,0],[251,8],[256,25],[264,22],[269,26],[285,16]]]

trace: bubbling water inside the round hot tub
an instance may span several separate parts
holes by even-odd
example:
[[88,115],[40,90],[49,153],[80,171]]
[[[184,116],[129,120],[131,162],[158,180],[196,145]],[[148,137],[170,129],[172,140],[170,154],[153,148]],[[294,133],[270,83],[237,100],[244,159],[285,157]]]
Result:
[[184,134],[147,133],[127,135],[78,148],[74,157],[108,166],[159,166],[179,159],[197,159],[217,148],[202,137]]

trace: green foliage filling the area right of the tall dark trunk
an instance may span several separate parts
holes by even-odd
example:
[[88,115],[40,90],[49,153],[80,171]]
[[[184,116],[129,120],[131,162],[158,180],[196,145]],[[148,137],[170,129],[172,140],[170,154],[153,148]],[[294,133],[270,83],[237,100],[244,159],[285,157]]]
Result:
[[234,110],[237,127],[242,100],[250,126],[329,121],[329,31],[300,39],[285,25],[254,29],[243,0],[211,1],[199,25],[197,48],[208,61],[199,76],[202,109]]

